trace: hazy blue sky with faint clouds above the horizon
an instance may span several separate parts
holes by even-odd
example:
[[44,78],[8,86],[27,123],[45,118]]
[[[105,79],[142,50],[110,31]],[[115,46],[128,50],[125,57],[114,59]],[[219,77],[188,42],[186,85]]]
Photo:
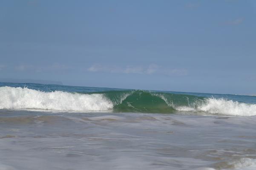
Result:
[[256,1],[1,0],[0,78],[256,94]]

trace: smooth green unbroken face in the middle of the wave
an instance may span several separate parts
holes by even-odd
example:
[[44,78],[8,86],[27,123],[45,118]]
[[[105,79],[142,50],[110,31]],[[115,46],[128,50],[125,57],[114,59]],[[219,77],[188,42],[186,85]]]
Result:
[[149,91],[108,91],[104,95],[114,104],[113,112],[173,113],[181,106],[195,108],[204,99]]

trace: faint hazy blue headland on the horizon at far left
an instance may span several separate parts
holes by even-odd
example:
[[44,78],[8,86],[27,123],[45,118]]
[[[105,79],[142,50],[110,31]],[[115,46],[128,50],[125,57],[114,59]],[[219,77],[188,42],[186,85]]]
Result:
[[38,83],[38,84],[48,84],[48,85],[63,85],[60,81],[52,80],[37,80],[37,79],[8,79],[0,78],[0,82],[17,82],[17,83]]

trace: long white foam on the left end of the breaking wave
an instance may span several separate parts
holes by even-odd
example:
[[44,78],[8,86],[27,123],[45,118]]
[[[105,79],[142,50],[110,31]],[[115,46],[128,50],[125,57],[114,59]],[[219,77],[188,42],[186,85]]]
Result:
[[0,87],[0,109],[104,111],[110,108],[113,108],[113,104],[103,94],[43,92],[29,88]]

